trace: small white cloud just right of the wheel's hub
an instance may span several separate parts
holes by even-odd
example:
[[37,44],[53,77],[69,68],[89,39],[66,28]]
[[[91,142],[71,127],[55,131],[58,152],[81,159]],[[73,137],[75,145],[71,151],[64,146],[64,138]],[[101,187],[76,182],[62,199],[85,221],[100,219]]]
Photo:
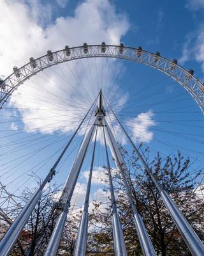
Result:
[[129,119],[126,124],[131,129],[135,141],[149,143],[153,139],[153,132],[149,128],[157,123],[152,119],[154,113],[149,110],[146,113],[140,113],[136,118]]

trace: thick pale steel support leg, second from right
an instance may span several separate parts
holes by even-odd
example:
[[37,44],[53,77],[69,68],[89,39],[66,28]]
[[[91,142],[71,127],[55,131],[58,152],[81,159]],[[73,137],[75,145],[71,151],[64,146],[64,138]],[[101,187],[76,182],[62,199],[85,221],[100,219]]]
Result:
[[117,161],[117,167],[120,170],[121,176],[122,176],[122,181],[124,182],[124,186],[126,187],[126,191],[128,193],[128,198],[129,198],[129,202],[131,204],[132,210],[133,210],[133,216],[134,216],[134,221],[135,221],[135,227],[136,227],[136,231],[139,237],[139,241],[140,241],[140,245],[142,248],[142,252],[143,255],[145,256],[156,256],[156,252],[154,250],[154,247],[152,245],[152,242],[150,241],[150,237],[147,233],[147,230],[145,228],[145,225],[142,221],[142,217],[140,216],[140,214],[138,213],[137,209],[136,209],[136,205],[133,202],[133,197],[131,195],[131,190],[129,189],[129,184],[128,181],[126,179],[126,174],[124,173],[124,170],[122,169],[121,165],[120,165],[120,161],[119,161],[119,157],[117,156],[117,152],[115,150],[114,144],[113,144],[113,134],[110,130],[110,128],[108,127],[108,125],[106,124],[105,126],[106,129],[106,134],[108,136],[108,141],[110,143],[110,148],[112,148],[113,150],[113,157],[115,157],[116,161]]

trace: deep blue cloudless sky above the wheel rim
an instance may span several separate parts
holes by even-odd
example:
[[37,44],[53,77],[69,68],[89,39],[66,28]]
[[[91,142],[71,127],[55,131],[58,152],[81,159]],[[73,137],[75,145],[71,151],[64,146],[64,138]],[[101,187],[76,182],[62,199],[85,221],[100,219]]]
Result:
[[[202,2],[201,0],[154,1],[154,3],[150,0],[110,1],[117,15],[126,15],[129,22],[129,29],[126,35],[122,36],[122,41],[129,46],[142,45],[148,51],[161,51],[167,58],[182,58],[189,37],[191,37],[189,43],[194,47],[196,36],[199,35],[198,30],[203,24]],[[83,1],[40,1],[40,3],[52,6],[52,14],[41,24],[46,27],[54,24],[59,17],[74,16],[75,9]],[[189,50],[191,51],[189,61],[193,61],[194,48]],[[193,65],[199,68],[198,63]]]

